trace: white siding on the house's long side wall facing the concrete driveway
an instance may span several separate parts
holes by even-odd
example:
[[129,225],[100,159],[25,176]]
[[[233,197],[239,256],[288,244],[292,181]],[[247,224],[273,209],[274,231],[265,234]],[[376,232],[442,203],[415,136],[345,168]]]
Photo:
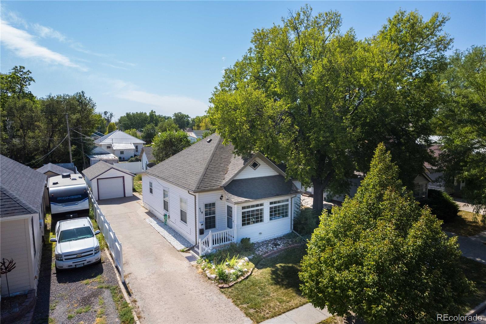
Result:
[[[150,193],[149,182],[152,182]],[[195,239],[194,196],[186,189],[154,176],[142,173],[142,201],[143,206],[161,220],[164,220],[163,189],[169,190],[169,210],[167,224],[184,236],[192,244]],[[187,224],[180,220],[180,198],[187,199]]]

